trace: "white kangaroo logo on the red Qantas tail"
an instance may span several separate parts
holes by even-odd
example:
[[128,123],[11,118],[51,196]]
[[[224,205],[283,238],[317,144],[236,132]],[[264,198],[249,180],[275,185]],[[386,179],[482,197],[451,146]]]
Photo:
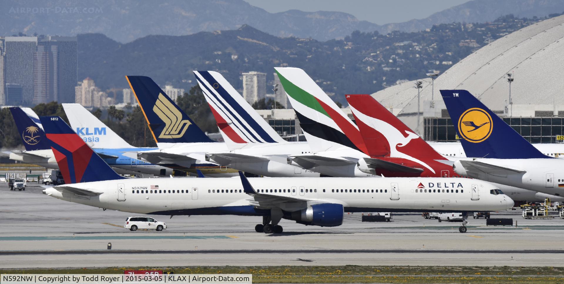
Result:
[[411,140],[419,138],[419,135],[411,131],[405,131],[407,134],[407,137],[405,137],[403,136],[402,132],[398,130],[398,128],[391,126],[390,123],[387,123],[377,118],[369,117],[364,113],[359,112],[352,106],[350,106],[350,108],[360,121],[374,128],[374,130],[380,132],[382,135],[384,135],[384,137],[386,137],[387,143],[390,145],[390,157],[404,158],[404,159],[408,159],[409,161],[420,163],[422,166],[428,168],[431,172],[433,172],[433,174],[435,174],[435,170],[433,170],[433,168],[431,168],[426,163],[414,157],[411,157],[406,153],[399,152],[398,149],[396,149],[396,147],[406,146],[407,144],[409,144]]

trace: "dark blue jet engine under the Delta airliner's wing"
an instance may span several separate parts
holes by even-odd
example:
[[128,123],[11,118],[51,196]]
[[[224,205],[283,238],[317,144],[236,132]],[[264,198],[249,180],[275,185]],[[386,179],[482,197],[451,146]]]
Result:
[[336,227],[343,224],[345,210],[343,205],[336,203],[322,203],[309,206],[305,209],[294,211],[290,220],[305,225],[321,227]]

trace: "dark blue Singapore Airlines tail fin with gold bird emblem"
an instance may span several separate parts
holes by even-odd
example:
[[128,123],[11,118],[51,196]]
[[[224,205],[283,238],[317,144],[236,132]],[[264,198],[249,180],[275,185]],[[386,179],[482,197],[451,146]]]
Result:
[[151,78],[125,78],[157,143],[213,142]]

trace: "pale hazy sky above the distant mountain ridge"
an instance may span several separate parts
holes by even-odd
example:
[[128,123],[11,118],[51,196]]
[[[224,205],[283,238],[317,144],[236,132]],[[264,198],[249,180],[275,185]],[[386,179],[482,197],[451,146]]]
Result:
[[460,5],[469,0],[245,0],[250,5],[277,13],[288,10],[337,11],[374,24],[401,23],[423,19],[434,12]]

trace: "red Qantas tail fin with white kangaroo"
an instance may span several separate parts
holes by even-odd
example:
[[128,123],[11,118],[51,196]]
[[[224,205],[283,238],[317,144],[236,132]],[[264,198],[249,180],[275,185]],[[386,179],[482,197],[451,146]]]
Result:
[[346,95],[371,157],[445,159],[371,95]]

